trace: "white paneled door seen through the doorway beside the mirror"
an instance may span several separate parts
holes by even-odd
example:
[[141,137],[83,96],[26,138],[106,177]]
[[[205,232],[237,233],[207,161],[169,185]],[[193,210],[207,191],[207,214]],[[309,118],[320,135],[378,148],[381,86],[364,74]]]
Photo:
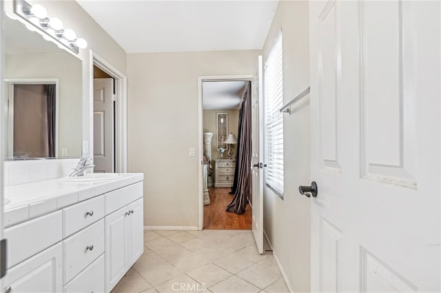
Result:
[[94,78],[94,172],[114,172],[113,78]]

